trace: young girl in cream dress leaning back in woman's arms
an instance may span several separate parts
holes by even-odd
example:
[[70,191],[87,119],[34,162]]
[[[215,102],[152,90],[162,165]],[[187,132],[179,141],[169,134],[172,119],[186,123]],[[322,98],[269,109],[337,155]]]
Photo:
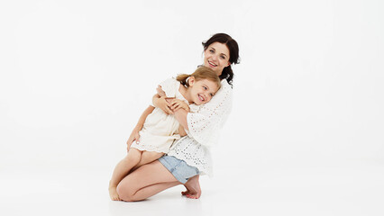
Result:
[[[219,90],[220,78],[209,67],[198,67],[191,75],[179,75],[160,84],[168,98],[172,100],[174,111],[185,109],[187,112],[197,112],[198,105],[208,103]],[[190,107],[188,106],[190,104]],[[173,115],[152,106],[151,114],[143,124],[140,142],[133,142],[128,155],[114,168],[114,174],[109,183],[109,195],[112,200],[120,200],[116,186],[125,175],[144,164],[160,158],[169,151],[172,143],[180,138],[185,131],[180,127]]]

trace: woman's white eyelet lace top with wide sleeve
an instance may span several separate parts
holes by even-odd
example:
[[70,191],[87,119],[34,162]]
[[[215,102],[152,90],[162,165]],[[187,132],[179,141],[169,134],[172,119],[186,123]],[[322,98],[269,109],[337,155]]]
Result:
[[232,108],[232,87],[225,79],[221,83],[210,102],[200,105],[196,113],[187,113],[187,136],[178,139],[168,153],[197,167],[201,175],[212,175],[210,147],[217,143]]

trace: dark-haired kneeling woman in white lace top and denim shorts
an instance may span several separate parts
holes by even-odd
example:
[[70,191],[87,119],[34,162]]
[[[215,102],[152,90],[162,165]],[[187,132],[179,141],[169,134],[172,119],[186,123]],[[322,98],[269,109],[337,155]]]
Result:
[[[221,89],[196,113],[188,113],[184,109],[174,112],[159,89],[159,94],[153,97],[154,105],[174,114],[187,131],[187,136],[174,143],[167,156],[141,166],[123,178],[117,186],[117,193],[123,201],[141,201],[178,184],[186,186],[187,191],[183,194],[188,198],[200,197],[198,176],[212,173],[209,147],[217,142],[218,132],[231,110],[231,65],[239,63],[237,42],[227,34],[217,33],[203,42],[203,46],[204,66],[212,68],[220,77]],[[128,145],[139,139],[138,131],[149,113],[148,109],[142,113],[127,141]]]

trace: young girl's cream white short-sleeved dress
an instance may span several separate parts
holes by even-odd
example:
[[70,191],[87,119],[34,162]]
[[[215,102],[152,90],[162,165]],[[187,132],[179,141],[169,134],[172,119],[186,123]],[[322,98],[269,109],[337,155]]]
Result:
[[[160,84],[161,89],[167,94],[167,97],[176,97],[179,100],[187,102],[178,88],[180,82],[175,78],[169,78]],[[196,104],[189,104],[190,112],[197,112]],[[168,153],[174,140],[180,139],[178,134],[179,123],[173,115],[166,114],[160,108],[155,108],[147,116],[142,130],[139,131],[140,143],[133,142],[131,148],[139,150],[156,151]]]

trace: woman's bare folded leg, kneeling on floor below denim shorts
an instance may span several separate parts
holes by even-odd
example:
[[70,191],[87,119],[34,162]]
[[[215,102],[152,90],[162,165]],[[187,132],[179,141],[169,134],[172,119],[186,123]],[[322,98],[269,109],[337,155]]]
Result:
[[123,178],[117,185],[117,193],[123,201],[141,201],[178,184],[181,183],[156,160]]

